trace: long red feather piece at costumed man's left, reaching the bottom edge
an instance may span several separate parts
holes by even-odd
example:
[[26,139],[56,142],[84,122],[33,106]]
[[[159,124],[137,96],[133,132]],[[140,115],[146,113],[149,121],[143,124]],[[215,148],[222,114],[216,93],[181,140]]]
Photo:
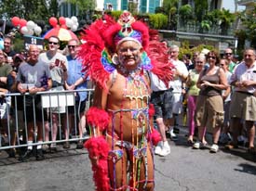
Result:
[[97,191],[110,190],[108,177],[109,146],[104,137],[90,138],[84,145],[88,149],[90,159],[97,158],[97,164],[92,164],[93,180]]

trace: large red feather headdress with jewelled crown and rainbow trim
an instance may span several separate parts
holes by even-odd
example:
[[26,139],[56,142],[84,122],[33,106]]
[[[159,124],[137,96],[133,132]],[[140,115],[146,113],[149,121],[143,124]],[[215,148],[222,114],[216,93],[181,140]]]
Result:
[[113,61],[116,48],[126,40],[135,41],[143,47],[141,64],[138,66],[141,70],[154,72],[167,86],[172,80],[173,66],[168,60],[167,47],[158,40],[150,41],[148,27],[135,20],[128,11],[124,11],[117,22],[107,15],[96,20],[82,39],[85,43],[81,45],[79,57],[83,60],[84,71],[103,89],[107,90],[106,83],[116,69]]

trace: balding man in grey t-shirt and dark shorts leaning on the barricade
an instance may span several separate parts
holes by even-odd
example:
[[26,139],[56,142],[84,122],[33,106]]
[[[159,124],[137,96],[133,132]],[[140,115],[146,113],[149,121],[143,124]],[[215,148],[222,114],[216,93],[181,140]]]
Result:
[[[28,54],[29,58],[26,62],[20,65],[17,76],[18,91],[22,94],[26,92],[30,94],[29,96],[25,97],[26,121],[28,128],[28,148],[25,154],[23,156],[20,156],[20,160],[28,160],[30,157],[33,156],[32,144],[34,140],[35,126],[37,126],[36,140],[39,143],[39,145],[36,146],[36,159],[41,160],[44,159],[42,150],[43,120],[45,122],[47,121],[47,111],[41,108],[41,97],[36,95],[36,93],[47,91],[51,87],[52,83],[48,65],[43,62],[38,62],[38,47],[36,45],[30,45]],[[44,117],[42,116],[42,109],[44,111]]]

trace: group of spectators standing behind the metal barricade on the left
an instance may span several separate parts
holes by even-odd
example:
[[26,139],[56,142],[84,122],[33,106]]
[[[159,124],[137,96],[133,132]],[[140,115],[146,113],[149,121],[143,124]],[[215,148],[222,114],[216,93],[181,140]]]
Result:
[[[40,160],[45,159],[45,152],[57,151],[57,139],[65,141],[64,148],[70,148],[69,139],[75,135],[79,138],[76,148],[83,148],[83,138],[88,135],[88,79],[77,57],[80,43],[75,39],[67,42],[65,55],[57,36],[51,36],[46,43],[47,51],[30,45],[29,50],[16,53],[12,50],[12,38],[7,36],[4,49],[0,50],[1,144],[13,146],[7,149],[9,157],[17,156],[15,146],[20,141],[27,146],[19,153],[20,160],[33,156]],[[74,106],[42,106],[39,93],[64,90],[73,91]]]

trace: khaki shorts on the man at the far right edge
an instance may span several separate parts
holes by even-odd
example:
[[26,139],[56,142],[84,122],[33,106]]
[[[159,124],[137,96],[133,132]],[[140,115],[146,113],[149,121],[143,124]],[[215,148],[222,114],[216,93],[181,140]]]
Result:
[[256,97],[248,93],[234,92],[230,104],[230,118],[256,121]]

